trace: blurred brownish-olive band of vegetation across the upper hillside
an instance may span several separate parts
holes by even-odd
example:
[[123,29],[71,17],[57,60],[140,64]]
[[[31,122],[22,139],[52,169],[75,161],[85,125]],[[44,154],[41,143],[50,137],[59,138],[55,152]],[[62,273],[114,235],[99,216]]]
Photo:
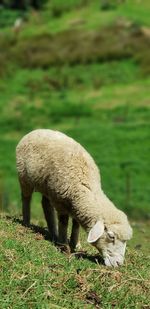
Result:
[[[9,47],[9,54],[1,51],[4,60],[10,58],[25,68],[88,64],[131,58],[148,73],[150,40],[138,25],[111,24],[101,31],[70,29],[57,34],[38,34],[31,38],[9,35],[7,42],[1,35],[1,44]],[[8,57],[9,55],[9,57]],[[28,58],[28,61],[26,61]]]

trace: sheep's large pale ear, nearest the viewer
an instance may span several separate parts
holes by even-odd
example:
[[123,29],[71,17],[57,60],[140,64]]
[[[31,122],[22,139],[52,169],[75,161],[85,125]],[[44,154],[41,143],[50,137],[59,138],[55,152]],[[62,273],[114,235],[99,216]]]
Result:
[[98,221],[92,229],[89,231],[87,241],[93,243],[97,241],[104,233],[104,224],[101,221]]

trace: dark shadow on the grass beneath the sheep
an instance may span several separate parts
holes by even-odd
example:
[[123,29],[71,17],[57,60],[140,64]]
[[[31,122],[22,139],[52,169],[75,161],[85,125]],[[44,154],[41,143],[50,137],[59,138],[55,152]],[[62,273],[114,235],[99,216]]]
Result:
[[[7,215],[6,219],[24,226],[23,220],[20,218],[11,217]],[[29,228],[35,234],[37,233],[41,234],[45,240],[51,242],[49,232],[46,228],[40,227],[35,224],[30,224],[27,228]],[[69,246],[60,245],[58,243],[55,243],[55,246],[57,247],[59,252],[65,253],[69,258],[75,257],[78,260],[80,259],[89,260],[92,263],[104,265],[104,261],[99,254],[91,255],[91,254],[88,254],[87,251],[77,251],[77,252],[71,253],[70,250],[68,249]]]

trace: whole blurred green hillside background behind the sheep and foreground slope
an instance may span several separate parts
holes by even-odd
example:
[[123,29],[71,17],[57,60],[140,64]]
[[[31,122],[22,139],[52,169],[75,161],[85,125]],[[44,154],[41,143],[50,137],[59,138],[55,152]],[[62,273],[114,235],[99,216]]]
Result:
[[150,218],[149,13],[149,0],[0,1],[1,211],[21,213],[18,141],[51,128],[90,152],[119,208]]

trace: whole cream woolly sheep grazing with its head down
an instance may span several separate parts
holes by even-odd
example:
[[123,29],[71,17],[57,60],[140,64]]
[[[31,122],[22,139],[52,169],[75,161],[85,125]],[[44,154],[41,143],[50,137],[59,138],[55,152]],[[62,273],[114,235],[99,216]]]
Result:
[[67,244],[70,216],[72,251],[81,226],[106,266],[123,264],[132,228],[127,216],[104,194],[98,167],[78,142],[58,131],[34,130],[18,143],[16,164],[25,225],[30,223],[32,193],[38,191],[52,241]]

